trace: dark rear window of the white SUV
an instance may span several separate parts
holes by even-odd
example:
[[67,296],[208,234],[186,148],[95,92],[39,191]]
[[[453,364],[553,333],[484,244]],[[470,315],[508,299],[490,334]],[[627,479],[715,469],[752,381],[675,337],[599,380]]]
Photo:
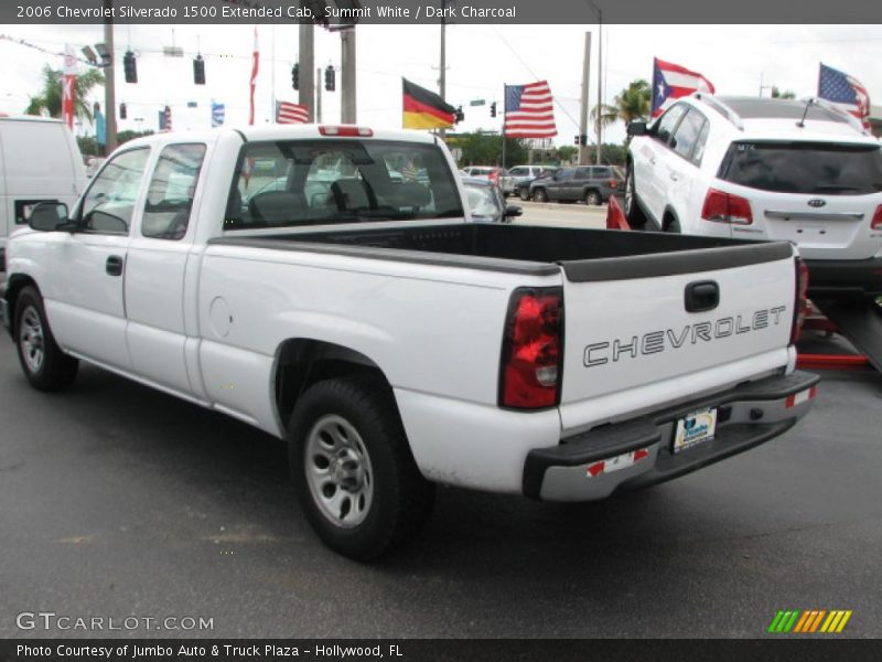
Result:
[[718,177],[776,193],[864,195],[882,191],[882,152],[873,145],[733,142]]

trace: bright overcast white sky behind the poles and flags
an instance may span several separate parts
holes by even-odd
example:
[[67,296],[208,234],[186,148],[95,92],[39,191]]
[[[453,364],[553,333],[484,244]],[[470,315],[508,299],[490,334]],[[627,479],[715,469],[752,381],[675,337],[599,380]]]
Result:
[[[207,128],[212,99],[227,108],[227,125],[248,119],[248,81],[254,25],[116,25],[117,102],[128,119],[119,129],[158,128],[158,111],[171,105],[175,130]],[[298,100],[291,89],[291,65],[298,58],[298,26],[259,24],[260,72],[256,122],[271,121],[272,99]],[[356,29],[358,124],[397,128],[401,121],[401,76],[437,89],[440,57],[437,25],[363,25]],[[557,145],[572,145],[578,134],[585,33],[592,34],[591,106],[598,97],[598,25],[448,25],[447,100],[462,105],[465,121],[456,130],[499,130],[503,86],[547,79],[556,99]],[[0,36],[24,40],[51,53],[65,43],[77,53],[103,41],[103,25],[2,25]],[[761,84],[790,89],[797,97],[816,92],[818,63],[839,68],[863,83],[874,106],[882,106],[882,25],[603,25],[603,99],[635,78],[652,78],[653,57],[681,64],[709,78],[718,94],[756,95]],[[162,47],[181,46],[183,58],[168,57]],[[138,84],[122,78],[127,49],[138,54]],[[340,35],[315,29],[315,64],[340,68]],[[192,58],[204,56],[206,85],[193,84]],[[0,39],[0,61],[14,63],[3,72],[0,111],[21,113],[40,89],[45,64],[61,68],[62,58]],[[340,120],[337,92],[322,90],[322,119]],[[103,92],[93,100],[101,102]],[[470,106],[484,99],[484,106]],[[490,117],[496,100],[499,113]],[[195,102],[196,108],[187,108]],[[78,134],[93,134],[88,124]],[[617,122],[604,142],[621,142]]]

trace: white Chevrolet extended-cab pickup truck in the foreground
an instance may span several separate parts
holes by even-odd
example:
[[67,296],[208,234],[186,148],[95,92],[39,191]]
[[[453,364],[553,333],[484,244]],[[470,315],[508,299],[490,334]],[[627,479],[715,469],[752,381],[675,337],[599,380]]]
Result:
[[[407,173],[407,174],[405,174]],[[289,440],[334,549],[413,535],[433,483],[549,501],[788,430],[788,243],[471,223],[441,141],[358,127],[152,136],[37,206],[0,298],[40,389],[103,366]]]

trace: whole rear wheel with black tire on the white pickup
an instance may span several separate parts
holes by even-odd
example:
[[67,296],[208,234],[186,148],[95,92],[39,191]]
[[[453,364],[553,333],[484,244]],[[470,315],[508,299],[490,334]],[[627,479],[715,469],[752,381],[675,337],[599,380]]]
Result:
[[377,558],[413,537],[429,519],[434,485],[420,474],[380,380],[314,384],[294,407],[288,439],[300,505],[335,552]]

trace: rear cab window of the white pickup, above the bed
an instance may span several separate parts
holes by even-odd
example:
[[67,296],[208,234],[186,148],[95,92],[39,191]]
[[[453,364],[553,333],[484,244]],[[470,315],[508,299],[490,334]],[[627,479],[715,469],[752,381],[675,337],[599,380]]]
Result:
[[434,145],[279,140],[244,147],[224,229],[462,216]]

